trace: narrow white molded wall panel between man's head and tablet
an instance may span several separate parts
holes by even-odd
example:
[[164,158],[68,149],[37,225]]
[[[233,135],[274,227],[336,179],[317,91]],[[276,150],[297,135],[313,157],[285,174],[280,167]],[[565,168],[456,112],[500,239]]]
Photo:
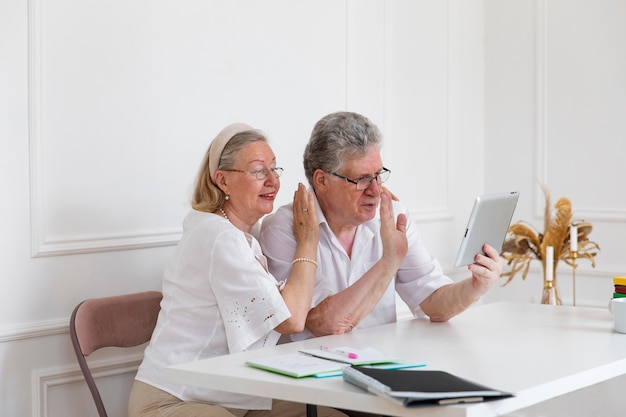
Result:
[[[416,221],[452,220],[449,56],[455,51],[450,4],[384,2],[381,19],[385,102],[381,129],[383,156],[393,172],[389,187],[412,208]],[[412,31],[417,33],[408,36]],[[418,181],[421,178],[428,181]]]

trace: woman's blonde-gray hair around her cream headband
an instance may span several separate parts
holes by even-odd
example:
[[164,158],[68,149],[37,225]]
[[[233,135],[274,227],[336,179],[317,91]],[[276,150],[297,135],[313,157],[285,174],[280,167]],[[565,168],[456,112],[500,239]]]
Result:
[[[226,146],[217,164],[217,169],[232,169],[239,161],[239,151],[253,142],[267,142],[267,138],[258,130],[246,130],[235,134]],[[209,160],[211,147],[202,160],[202,165],[196,177],[196,185],[191,200],[191,207],[198,211],[214,212],[224,205],[226,194],[211,179]]]

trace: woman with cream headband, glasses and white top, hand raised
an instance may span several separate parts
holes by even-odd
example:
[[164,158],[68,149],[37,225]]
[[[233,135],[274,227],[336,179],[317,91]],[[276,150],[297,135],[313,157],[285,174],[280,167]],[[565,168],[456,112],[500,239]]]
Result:
[[[275,345],[304,329],[319,229],[313,197],[293,199],[292,273],[277,282],[251,230],[272,212],[282,168],[262,133],[224,128],[197,176],[183,236],[163,276],[163,301],[129,400],[133,416],[302,416],[305,405],[168,383],[167,366]],[[341,415],[319,409],[322,415]]]

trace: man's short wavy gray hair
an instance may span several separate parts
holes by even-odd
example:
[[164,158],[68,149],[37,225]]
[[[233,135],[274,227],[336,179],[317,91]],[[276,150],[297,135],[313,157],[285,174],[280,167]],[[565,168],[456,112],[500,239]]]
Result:
[[367,117],[352,112],[331,113],[320,119],[304,149],[304,174],[313,187],[316,169],[337,172],[347,159],[365,156],[372,146],[381,148],[383,135]]

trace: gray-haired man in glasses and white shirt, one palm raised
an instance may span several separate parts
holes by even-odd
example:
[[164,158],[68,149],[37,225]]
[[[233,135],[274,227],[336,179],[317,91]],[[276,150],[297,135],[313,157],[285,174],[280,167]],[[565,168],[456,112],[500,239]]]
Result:
[[[295,336],[339,334],[396,320],[396,297],[416,317],[447,321],[485,294],[500,276],[496,249],[485,245],[453,282],[424,247],[408,211],[382,184],[382,135],[368,118],[332,113],[316,123],[304,151],[304,171],[315,193],[320,240],[312,308]],[[264,221],[260,243],[271,273],[289,277],[296,240],[291,205]]]

